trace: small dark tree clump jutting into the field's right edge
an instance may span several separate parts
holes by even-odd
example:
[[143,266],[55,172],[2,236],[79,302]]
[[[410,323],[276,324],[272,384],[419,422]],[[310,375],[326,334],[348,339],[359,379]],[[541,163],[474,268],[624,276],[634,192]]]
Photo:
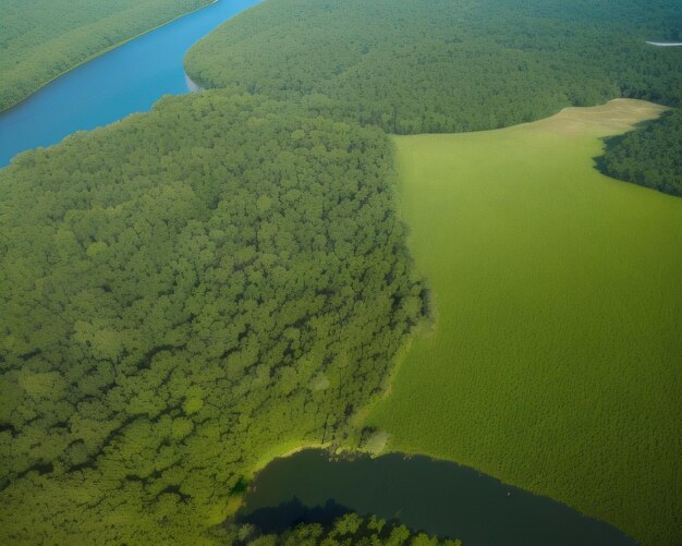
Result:
[[682,110],[608,138],[598,165],[610,177],[682,196]]

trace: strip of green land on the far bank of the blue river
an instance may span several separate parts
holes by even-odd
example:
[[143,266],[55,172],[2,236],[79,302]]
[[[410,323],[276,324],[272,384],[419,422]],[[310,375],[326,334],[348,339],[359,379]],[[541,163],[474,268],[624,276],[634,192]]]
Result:
[[0,0],[0,111],[88,58],[210,0]]

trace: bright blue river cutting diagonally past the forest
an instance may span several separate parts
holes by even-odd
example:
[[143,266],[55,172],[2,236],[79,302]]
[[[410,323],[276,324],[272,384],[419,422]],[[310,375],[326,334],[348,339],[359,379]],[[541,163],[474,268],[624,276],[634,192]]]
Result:
[[21,151],[147,111],[166,94],[187,93],[187,49],[259,1],[219,0],[66,72],[0,113],[0,167]]

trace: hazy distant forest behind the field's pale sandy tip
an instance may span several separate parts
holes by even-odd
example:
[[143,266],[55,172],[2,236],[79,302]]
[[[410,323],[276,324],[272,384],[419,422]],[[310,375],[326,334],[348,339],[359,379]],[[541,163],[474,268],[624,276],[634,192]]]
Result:
[[186,71],[391,133],[475,131],[616,97],[675,106],[682,49],[645,39],[680,27],[671,0],[278,0],[202,40]]

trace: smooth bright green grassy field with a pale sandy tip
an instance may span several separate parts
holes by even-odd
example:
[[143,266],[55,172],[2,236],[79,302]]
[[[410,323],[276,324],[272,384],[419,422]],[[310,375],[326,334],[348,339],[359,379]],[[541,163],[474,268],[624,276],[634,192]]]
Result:
[[593,168],[660,109],[617,100],[536,123],[395,137],[436,321],[368,423],[682,544],[682,199]]

